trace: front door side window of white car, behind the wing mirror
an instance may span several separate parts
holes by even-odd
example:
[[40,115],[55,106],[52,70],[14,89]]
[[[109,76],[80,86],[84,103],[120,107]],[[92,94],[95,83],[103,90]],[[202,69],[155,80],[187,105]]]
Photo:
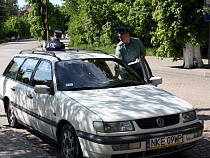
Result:
[[47,61],[41,61],[32,80],[32,86],[47,85],[51,87],[51,84],[52,84],[51,64]]

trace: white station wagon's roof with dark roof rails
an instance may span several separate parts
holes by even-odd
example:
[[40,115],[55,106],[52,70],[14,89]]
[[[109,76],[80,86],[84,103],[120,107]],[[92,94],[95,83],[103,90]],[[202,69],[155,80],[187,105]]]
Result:
[[[103,54],[102,54],[103,53]],[[43,56],[44,55],[44,56]],[[100,50],[93,49],[70,49],[64,51],[36,51],[36,50],[22,50],[16,56],[28,56],[50,59],[52,57],[58,60],[72,60],[72,59],[91,59],[91,58],[115,58],[114,55]]]

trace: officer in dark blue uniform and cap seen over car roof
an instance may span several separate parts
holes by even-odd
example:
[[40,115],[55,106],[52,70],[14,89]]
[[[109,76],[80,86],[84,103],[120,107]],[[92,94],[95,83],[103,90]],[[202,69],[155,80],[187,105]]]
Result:
[[59,30],[55,30],[54,39],[46,44],[46,51],[59,51],[61,49],[65,49],[64,43],[60,42],[62,36],[62,32]]

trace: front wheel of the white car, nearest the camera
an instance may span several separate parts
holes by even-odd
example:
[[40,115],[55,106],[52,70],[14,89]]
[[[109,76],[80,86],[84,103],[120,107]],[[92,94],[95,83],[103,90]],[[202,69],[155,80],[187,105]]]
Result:
[[63,158],[82,158],[82,150],[74,128],[70,124],[63,126],[60,135],[60,149]]

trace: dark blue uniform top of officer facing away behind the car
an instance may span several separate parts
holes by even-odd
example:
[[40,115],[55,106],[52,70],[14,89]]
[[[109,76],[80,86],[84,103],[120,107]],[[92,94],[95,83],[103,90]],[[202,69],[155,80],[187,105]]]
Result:
[[47,51],[59,51],[61,49],[65,49],[65,45],[58,39],[54,38],[52,41],[47,43],[45,48]]

